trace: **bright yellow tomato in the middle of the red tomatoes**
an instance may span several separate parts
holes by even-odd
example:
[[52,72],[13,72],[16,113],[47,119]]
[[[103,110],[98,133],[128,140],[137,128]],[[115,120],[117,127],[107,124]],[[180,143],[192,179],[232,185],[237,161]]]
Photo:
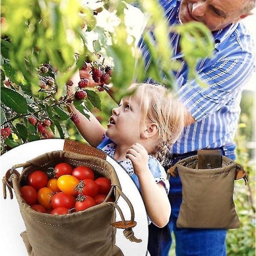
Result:
[[67,194],[76,195],[76,185],[79,184],[79,180],[72,175],[61,175],[57,180],[58,188]]

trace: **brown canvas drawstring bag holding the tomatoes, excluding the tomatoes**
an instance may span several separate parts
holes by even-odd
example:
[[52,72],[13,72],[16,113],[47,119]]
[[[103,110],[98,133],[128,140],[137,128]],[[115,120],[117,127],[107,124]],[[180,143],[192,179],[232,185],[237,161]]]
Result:
[[[64,215],[50,215],[33,210],[21,197],[20,186],[26,184],[26,177],[35,170],[47,172],[58,163],[88,166],[93,171],[111,180],[111,191],[105,201],[84,211]],[[16,168],[23,167],[21,174]],[[134,209],[123,194],[113,166],[106,161],[106,154],[87,144],[65,140],[63,151],[52,151],[28,162],[13,166],[3,177],[4,198],[6,187],[11,198],[12,189],[17,198],[26,231],[21,234],[29,256],[122,256],[115,246],[116,228],[122,228],[124,236],[130,241],[140,242],[134,236],[132,227]],[[109,196],[114,202],[106,202]],[[125,220],[122,209],[117,204],[124,198],[131,210],[131,219]],[[118,210],[121,221],[116,221]]]

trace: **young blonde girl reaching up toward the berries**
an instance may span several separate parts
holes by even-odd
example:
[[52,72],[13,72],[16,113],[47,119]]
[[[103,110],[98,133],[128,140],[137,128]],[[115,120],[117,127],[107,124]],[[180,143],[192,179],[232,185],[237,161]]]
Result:
[[[77,73],[74,86],[79,82]],[[90,120],[70,104],[81,122],[77,129],[93,147],[121,164],[136,183],[148,217],[158,227],[170,217],[169,182],[160,161],[184,128],[183,105],[160,85],[132,84],[119,107],[112,110],[107,128],[88,112]]]

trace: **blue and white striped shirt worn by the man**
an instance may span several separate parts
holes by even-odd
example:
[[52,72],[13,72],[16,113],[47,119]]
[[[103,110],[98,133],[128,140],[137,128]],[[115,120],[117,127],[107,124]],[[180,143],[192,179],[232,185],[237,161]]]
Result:
[[[180,0],[159,2],[170,26],[180,24]],[[182,52],[178,52],[180,36],[170,33],[173,58],[182,62],[181,70],[172,71],[177,79],[179,95],[197,121],[187,126],[180,139],[172,145],[175,154],[235,145],[233,138],[239,120],[241,91],[255,70],[253,42],[241,22],[213,32],[213,37],[214,56],[202,59],[197,65],[199,76],[209,85],[203,88],[195,80],[187,80],[187,65]],[[139,46],[148,64],[150,58],[143,40]],[[148,82],[152,82],[151,79]]]

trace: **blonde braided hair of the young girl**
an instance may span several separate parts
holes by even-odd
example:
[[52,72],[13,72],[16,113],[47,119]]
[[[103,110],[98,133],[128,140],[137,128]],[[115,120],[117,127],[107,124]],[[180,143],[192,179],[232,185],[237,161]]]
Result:
[[141,102],[141,124],[147,119],[156,123],[158,143],[152,155],[163,163],[168,148],[177,141],[184,129],[186,110],[180,100],[161,85],[132,84],[128,93],[136,96]]

